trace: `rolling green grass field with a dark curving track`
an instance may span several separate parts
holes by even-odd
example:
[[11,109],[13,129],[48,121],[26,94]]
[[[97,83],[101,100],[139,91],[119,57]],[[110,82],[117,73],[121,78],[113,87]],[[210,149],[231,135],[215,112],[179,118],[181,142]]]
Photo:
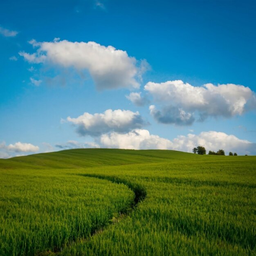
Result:
[[9,255],[256,255],[256,157],[76,149],[0,159]]

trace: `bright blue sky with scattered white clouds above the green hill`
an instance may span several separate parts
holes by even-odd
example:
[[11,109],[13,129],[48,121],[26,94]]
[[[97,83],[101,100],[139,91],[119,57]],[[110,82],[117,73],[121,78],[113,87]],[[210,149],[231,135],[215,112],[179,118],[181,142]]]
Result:
[[255,1],[2,1],[0,157],[256,154],[255,31]]

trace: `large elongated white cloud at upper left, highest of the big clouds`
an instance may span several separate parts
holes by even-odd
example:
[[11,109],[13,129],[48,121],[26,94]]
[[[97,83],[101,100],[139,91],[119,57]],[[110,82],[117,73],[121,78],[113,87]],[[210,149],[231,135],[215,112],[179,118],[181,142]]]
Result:
[[88,70],[98,89],[139,88],[137,79],[146,70],[146,61],[139,62],[126,51],[95,42],[70,42],[67,40],[38,43],[31,40],[37,51],[19,52],[30,63],[44,63],[56,67],[73,67],[77,71]]

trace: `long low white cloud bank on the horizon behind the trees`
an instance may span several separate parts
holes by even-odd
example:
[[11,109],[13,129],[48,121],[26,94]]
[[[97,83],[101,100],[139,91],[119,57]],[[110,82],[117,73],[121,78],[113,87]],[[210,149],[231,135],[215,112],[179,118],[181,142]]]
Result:
[[204,146],[207,152],[223,149],[226,154],[229,151],[241,155],[256,154],[255,143],[216,131],[201,132],[199,135],[180,135],[173,140],[169,140],[157,135],[150,135],[148,130],[135,129],[125,134],[118,132],[103,134],[99,138],[99,144],[106,148],[172,149],[185,152],[192,152],[194,147],[200,145]]

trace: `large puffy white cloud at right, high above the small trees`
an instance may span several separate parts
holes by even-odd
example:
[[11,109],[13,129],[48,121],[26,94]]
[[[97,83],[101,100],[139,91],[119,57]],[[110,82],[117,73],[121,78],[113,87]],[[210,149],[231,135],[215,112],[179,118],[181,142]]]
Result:
[[[247,110],[256,108],[254,92],[243,85],[230,83],[215,86],[207,83],[202,87],[196,87],[181,80],[175,80],[165,83],[148,82],[144,89],[162,106],[161,112],[164,113],[160,113],[164,117],[168,109],[173,107],[191,112],[192,115],[197,112],[201,121],[208,116],[242,115]],[[170,116],[170,119],[175,119],[175,116],[174,118]]]

